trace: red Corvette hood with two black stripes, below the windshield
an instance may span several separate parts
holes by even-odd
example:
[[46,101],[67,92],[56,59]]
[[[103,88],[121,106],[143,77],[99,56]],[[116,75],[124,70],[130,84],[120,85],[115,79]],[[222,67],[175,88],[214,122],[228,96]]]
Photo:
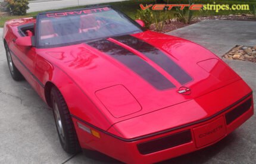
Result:
[[152,31],[41,49],[40,53],[73,78],[112,124],[195,99],[241,79],[207,49]]

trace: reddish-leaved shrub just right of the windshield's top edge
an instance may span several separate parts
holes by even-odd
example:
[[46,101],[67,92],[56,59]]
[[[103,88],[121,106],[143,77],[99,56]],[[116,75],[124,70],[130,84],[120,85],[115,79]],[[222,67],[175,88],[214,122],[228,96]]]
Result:
[[136,18],[144,21],[145,27],[147,29],[149,29],[150,25],[154,21],[152,11],[149,8],[147,8],[146,10],[137,10]]

